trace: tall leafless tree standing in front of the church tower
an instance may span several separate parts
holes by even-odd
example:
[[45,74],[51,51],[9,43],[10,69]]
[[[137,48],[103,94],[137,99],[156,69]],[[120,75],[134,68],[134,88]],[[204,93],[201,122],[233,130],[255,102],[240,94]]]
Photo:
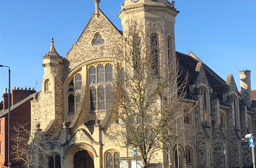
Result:
[[174,60],[166,58],[160,67],[162,48],[157,36],[145,34],[136,19],[126,24],[124,48],[113,51],[117,80],[112,114],[119,119],[119,128],[111,132],[114,139],[120,138],[120,147],[135,147],[143,167],[148,167],[157,151],[170,153],[176,144],[188,80]]

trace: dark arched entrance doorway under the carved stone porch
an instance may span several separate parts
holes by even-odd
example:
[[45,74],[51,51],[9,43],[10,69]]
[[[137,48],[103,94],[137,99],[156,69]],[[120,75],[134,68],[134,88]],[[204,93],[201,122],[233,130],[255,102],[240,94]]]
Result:
[[81,150],[74,155],[74,168],[94,168],[93,154],[87,150]]

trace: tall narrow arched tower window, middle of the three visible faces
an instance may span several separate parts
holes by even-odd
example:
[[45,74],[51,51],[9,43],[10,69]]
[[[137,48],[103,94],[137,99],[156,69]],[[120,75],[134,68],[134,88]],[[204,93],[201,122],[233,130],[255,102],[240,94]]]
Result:
[[159,37],[156,33],[151,35],[151,60],[152,70],[155,75],[159,74]]

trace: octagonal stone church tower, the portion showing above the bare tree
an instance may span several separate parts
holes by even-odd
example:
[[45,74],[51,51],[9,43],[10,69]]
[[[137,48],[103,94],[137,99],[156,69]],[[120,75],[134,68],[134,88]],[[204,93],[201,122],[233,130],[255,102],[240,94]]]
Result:
[[[151,41],[157,36],[159,45],[159,66],[176,63],[175,17],[179,13],[175,2],[168,0],[124,0],[118,16],[122,20],[123,34],[129,31],[132,21],[142,24],[143,34]],[[169,64],[170,65],[170,64]]]

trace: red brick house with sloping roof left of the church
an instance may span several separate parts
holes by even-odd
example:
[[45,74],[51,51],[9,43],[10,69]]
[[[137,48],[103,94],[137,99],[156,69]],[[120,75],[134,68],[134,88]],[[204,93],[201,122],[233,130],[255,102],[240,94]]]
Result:
[[[13,125],[24,125],[30,129],[30,101],[33,100],[35,90],[29,88],[19,89],[13,88],[11,93],[11,113],[10,113],[10,134],[11,127]],[[0,103],[0,167],[7,167],[8,163],[8,93],[5,89],[5,93],[2,96],[3,101]],[[10,147],[12,142],[10,142]],[[10,148],[11,153],[11,148]],[[12,156],[10,157],[10,161]],[[13,163],[12,166],[18,166],[18,163]]]

